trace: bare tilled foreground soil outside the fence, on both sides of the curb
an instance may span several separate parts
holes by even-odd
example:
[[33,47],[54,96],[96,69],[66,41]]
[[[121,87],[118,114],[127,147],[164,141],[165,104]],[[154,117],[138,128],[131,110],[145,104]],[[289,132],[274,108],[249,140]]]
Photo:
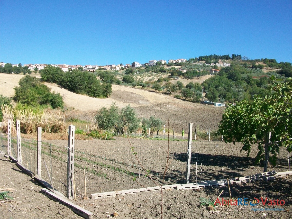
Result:
[[[12,201],[0,201],[1,218],[80,218],[71,210],[56,203],[40,193],[40,186],[22,173],[10,160],[0,159],[1,188],[15,188],[10,193]],[[200,206],[201,199],[215,201],[222,189],[220,198],[228,199],[228,188],[208,188],[204,190],[167,190],[163,192],[163,218],[292,218],[292,177],[276,178],[275,180],[255,183],[243,183],[231,186],[232,199],[267,197],[283,199],[284,211],[253,211],[252,206],[216,206],[209,211]],[[161,193],[145,192],[134,195],[117,196],[107,199],[76,201],[79,206],[94,213],[93,218],[160,218]],[[263,206],[256,208],[273,208]],[[114,216],[114,214],[116,216]]]

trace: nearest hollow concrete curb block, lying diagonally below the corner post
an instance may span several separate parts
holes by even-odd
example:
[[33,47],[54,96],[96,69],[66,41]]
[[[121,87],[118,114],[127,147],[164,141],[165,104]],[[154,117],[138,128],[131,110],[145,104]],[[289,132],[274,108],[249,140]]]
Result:
[[93,216],[93,213],[90,211],[87,211],[84,208],[81,208],[80,206],[72,203],[71,201],[68,201],[67,199],[59,196],[58,194],[51,192],[48,189],[41,189],[41,193],[47,196],[49,199],[52,199],[54,201],[58,201],[60,204],[65,205],[66,207],[70,208],[72,211],[77,213],[78,215],[90,219]]

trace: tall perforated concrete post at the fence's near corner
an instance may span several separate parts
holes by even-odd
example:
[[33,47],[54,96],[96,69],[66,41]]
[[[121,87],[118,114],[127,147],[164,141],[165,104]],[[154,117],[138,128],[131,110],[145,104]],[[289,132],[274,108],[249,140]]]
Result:
[[69,126],[68,132],[68,161],[67,161],[67,198],[73,198],[73,174],[74,174],[74,142],[75,126]]

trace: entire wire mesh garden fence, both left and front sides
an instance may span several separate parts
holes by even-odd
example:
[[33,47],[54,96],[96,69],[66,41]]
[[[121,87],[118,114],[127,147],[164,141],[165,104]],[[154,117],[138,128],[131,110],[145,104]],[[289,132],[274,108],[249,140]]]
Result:
[[[7,134],[0,133],[2,152],[7,153]],[[12,153],[16,143],[12,142]],[[16,140],[15,140],[16,142]],[[111,141],[96,145],[82,145],[74,153],[74,185],[79,197],[87,193],[110,192],[133,188],[186,183],[187,141],[144,140],[120,144]],[[37,174],[37,141],[21,139],[22,164]],[[253,175],[263,172],[263,163],[255,164],[257,148],[250,156],[240,151],[242,145],[220,141],[193,141],[190,166],[190,183]],[[280,148],[277,165],[269,164],[268,171],[288,171],[288,152]],[[42,178],[66,195],[68,147],[42,142]],[[44,165],[46,162],[48,172]],[[167,168],[166,168],[167,165]]]

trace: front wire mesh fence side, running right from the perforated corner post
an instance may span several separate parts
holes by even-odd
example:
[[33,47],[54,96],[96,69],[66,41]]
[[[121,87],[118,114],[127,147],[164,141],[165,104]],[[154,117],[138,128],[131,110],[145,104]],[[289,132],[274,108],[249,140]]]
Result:
[[[246,157],[237,143],[194,142],[192,145],[190,183],[235,178],[263,172],[263,164],[255,164],[256,148]],[[169,155],[169,156],[168,156]],[[168,168],[165,171],[166,164]],[[77,191],[91,193],[126,190],[164,184],[186,183],[187,143],[159,142],[159,145],[95,147],[75,150],[75,182]],[[281,148],[278,164],[268,171],[288,171],[285,148]],[[165,174],[164,174],[165,173]]]

